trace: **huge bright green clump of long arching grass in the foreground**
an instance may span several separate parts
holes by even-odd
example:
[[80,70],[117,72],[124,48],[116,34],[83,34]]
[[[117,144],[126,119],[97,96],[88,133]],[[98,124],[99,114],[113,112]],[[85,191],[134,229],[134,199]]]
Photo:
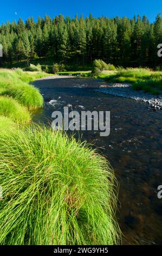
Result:
[[115,178],[107,160],[46,127],[0,136],[1,245],[113,245]]

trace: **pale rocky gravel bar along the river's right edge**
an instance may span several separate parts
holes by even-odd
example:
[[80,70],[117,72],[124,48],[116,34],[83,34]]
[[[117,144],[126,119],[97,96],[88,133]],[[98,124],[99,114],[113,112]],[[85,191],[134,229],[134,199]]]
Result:
[[148,108],[162,109],[162,93],[161,95],[152,95],[142,91],[135,91],[128,83],[101,85],[95,89],[95,92],[143,101],[149,104]]

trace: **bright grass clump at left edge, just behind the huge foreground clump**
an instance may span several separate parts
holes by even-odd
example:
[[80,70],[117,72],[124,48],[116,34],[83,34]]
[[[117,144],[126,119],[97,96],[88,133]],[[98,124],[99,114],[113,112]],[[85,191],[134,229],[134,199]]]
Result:
[[28,110],[11,97],[0,97],[0,115],[10,118],[18,124],[29,123],[31,117]]

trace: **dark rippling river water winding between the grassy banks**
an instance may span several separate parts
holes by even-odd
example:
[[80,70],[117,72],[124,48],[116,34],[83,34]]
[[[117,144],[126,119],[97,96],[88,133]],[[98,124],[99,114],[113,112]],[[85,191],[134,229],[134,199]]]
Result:
[[[46,104],[34,121],[51,118],[51,113],[72,105],[73,110],[111,111],[111,133],[87,131],[82,139],[95,143],[111,162],[120,184],[117,212],[124,234],[122,243],[162,244],[162,199],[157,187],[162,185],[162,111],[152,111],[146,103],[96,93],[93,88],[103,82],[79,78],[40,80]],[[56,100],[54,106],[47,102]]]

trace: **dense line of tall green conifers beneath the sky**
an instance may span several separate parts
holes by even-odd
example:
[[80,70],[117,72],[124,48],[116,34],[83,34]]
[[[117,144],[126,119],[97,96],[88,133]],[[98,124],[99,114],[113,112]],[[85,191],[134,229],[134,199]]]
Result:
[[7,22],[0,27],[2,64],[33,58],[53,58],[54,62],[85,65],[94,59],[119,66],[158,66],[157,46],[162,43],[162,18],[151,23],[146,16],[70,19],[48,15],[35,22]]

